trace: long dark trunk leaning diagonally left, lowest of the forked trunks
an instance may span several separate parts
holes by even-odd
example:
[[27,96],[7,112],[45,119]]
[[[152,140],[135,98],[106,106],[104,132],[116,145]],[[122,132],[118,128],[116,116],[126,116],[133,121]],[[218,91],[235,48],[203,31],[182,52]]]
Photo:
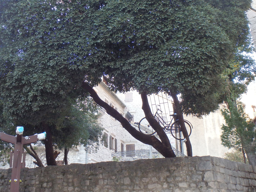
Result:
[[[105,103],[103,100],[101,100],[99,98],[98,94],[86,82],[82,83],[82,88],[86,92],[89,92],[91,97],[93,98],[93,100],[97,104],[102,106],[109,115],[111,115],[113,118],[115,118],[117,121],[119,121],[121,123],[121,125],[124,127],[124,129],[126,131],[128,131],[135,139],[141,141],[142,143],[152,145],[164,157],[175,157],[175,154],[170,145],[168,146],[168,145],[166,145],[166,143],[162,143],[161,141],[159,141],[158,138],[156,138],[153,135],[146,135],[146,134],[138,131],[137,129],[135,129],[133,126],[130,125],[129,121],[127,121],[118,111],[116,111],[114,108],[112,108],[108,103]],[[159,133],[161,132],[157,128],[156,128],[156,130]]]

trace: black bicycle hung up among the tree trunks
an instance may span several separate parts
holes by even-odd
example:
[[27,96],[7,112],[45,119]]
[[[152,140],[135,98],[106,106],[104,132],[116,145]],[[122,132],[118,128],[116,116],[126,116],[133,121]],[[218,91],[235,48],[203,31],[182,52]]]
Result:
[[[177,119],[177,114],[174,113],[174,114],[170,115],[172,118],[171,118],[171,121],[168,122],[168,121],[164,120],[165,118],[163,118],[163,116],[159,112],[162,113],[162,111],[160,109],[157,109],[156,113],[154,114],[154,118],[163,127],[164,131],[171,133],[172,136],[177,140],[184,140],[182,130],[180,127],[180,122]],[[185,123],[186,130],[188,132],[188,136],[190,136],[193,126],[187,120],[184,120],[184,123]],[[140,132],[142,132],[144,134],[154,135],[156,133],[156,131],[153,129],[153,127],[150,125],[150,123],[147,121],[147,119],[145,117],[142,118],[140,120],[140,122],[137,124],[138,124],[138,128],[139,128]]]

